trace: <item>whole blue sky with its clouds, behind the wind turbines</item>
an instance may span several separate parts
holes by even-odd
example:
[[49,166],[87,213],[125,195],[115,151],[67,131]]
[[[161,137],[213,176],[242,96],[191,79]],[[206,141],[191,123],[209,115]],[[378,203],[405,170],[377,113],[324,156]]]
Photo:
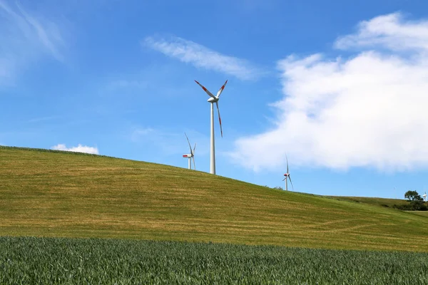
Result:
[[321,195],[423,194],[426,1],[0,0],[0,144]]

